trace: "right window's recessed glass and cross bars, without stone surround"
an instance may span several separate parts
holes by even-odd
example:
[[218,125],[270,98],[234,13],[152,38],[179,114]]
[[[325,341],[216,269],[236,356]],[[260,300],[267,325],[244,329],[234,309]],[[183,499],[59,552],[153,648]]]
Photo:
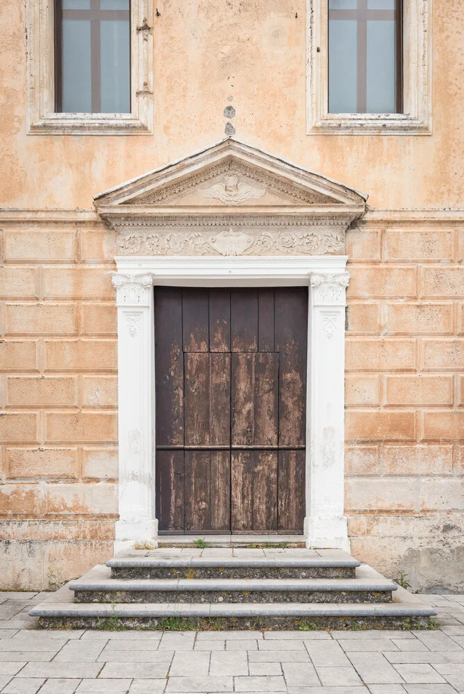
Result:
[[329,0],[329,113],[400,113],[401,0]]

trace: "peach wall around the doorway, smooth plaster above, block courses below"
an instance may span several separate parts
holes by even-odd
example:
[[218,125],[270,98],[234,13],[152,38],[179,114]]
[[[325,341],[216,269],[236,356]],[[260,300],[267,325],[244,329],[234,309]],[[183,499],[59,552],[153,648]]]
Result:
[[[228,103],[237,137],[369,192],[374,207],[463,206],[458,3],[435,12],[431,137],[305,135],[303,0],[158,8],[154,135],[27,136],[24,2],[0,3],[1,206],[90,209],[95,193],[221,139]],[[40,588],[112,552],[115,246],[94,222],[1,227],[0,584]],[[451,222],[370,221],[347,235],[352,550],[417,588],[462,587],[463,250]]]

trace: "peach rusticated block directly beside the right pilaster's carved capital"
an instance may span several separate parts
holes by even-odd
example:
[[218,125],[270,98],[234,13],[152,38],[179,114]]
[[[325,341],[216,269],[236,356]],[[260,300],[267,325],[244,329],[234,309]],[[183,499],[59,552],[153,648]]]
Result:
[[350,265],[349,298],[408,298],[415,297],[415,266]]

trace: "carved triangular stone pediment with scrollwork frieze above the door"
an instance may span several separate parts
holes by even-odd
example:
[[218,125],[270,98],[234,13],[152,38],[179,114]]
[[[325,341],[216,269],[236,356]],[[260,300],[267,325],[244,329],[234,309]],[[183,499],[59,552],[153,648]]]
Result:
[[366,198],[225,139],[94,199],[119,255],[146,256],[341,254]]

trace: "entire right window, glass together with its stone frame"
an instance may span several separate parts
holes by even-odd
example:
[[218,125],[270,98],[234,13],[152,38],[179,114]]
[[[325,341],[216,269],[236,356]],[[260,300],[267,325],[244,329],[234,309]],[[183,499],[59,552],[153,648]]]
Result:
[[308,134],[431,133],[431,0],[307,0]]

